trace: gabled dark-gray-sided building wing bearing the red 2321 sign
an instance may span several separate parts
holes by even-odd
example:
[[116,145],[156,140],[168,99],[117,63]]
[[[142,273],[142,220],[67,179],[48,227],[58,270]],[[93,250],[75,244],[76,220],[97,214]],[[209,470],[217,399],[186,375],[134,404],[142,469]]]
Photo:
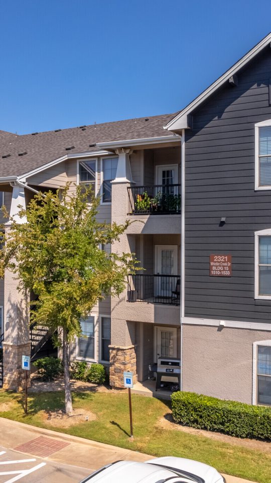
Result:
[[179,113],[182,389],[271,405],[271,35]]

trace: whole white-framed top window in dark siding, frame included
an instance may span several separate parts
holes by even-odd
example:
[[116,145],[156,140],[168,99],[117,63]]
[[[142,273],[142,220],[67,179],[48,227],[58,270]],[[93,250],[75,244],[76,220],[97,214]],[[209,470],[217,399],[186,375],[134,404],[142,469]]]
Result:
[[271,119],[255,124],[255,190],[271,189]]

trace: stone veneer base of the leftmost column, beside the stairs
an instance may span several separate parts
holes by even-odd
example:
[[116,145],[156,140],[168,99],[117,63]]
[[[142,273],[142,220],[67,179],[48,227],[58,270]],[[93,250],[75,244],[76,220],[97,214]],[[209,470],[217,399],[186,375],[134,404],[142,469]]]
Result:
[[[3,389],[21,391],[25,388],[25,371],[22,369],[22,356],[30,356],[30,352],[30,342],[20,345],[3,342]],[[30,379],[28,385],[30,386]]]

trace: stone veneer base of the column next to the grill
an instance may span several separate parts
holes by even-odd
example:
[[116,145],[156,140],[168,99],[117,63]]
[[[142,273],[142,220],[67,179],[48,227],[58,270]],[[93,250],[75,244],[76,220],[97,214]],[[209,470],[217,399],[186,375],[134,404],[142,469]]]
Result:
[[137,357],[135,346],[109,346],[110,349],[110,386],[124,387],[123,372],[133,373],[133,382],[136,381]]

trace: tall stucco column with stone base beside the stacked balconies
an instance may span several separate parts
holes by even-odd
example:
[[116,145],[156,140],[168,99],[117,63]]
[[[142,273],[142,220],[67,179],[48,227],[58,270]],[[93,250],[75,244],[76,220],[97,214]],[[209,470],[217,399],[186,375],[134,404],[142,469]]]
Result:
[[[118,165],[116,178],[112,181],[112,222],[123,224],[128,212],[127,187],[133,184],[130,170],[129,149],[118,149]],[[130,240],[131,241],[131,240]],[[126,233],[119,237],[119,241],[112,245],[112,252],[117,254],[131,253]],[[136,374],[135,333],[134,323],[119,319],[114,315],[114,308],[126,299],[126,288],[119,298],[111,299],[111,345],[110,349],[110,384],[113,387],[123,387],[123,372],[132,371]]]

